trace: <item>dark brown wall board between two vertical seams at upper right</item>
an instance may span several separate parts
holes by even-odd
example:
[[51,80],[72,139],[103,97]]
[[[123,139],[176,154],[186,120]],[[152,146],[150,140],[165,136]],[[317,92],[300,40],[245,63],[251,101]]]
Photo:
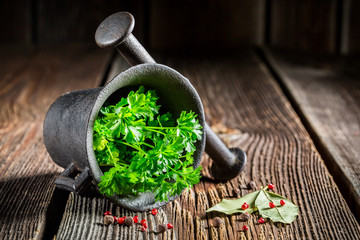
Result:
[[270,46],[308,52],[336,50],[336,0],[271,0]]

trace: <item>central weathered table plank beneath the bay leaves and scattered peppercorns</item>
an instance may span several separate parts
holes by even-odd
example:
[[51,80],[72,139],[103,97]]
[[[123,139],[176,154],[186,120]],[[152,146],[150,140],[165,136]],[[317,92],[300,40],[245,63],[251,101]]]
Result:
[[[222,132],[229,146],[247,153],[245,171],[226,183],[203,178],[190,192],[159,209],[155,217],[124,210],[106,199],[71,194],[57,239],[352,239],[360,235],[356,219],[308,133],[254,53],[243,51],[233,57],[199,59],[172,57],[158,62],[165,62],[191,79],[213,128]],[[204,176],[210,177],[210,163],[204,155]],[[246,223],[250,231],[244,233],[238,215],[205,214],[208,207],[231,197],[234,188],[246,194],[250,180],[258,187],[275,183],[276,192],[300,207],[296,221],[290,225],[258,225],[257,218],[252,217]],[[103,226],[106,210],[116,216],[137,214],[146,218],[148,231]],[[212,227],[214,216],[220,216],[225,225]],[[154,232],[160,223],[167,222],[174,224],[173,230]]]

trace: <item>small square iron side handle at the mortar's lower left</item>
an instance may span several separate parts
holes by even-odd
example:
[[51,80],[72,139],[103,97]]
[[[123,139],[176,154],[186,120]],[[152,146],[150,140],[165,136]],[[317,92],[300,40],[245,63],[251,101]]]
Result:
[[55,179],[56,187],[66,191],[79,193],[90,178],[90,169],[85,167],[75,179],[72,178],[71,176],[77,172],[79,172],[79,170],[74,163],[71,163],[65,168],[60,176]]

